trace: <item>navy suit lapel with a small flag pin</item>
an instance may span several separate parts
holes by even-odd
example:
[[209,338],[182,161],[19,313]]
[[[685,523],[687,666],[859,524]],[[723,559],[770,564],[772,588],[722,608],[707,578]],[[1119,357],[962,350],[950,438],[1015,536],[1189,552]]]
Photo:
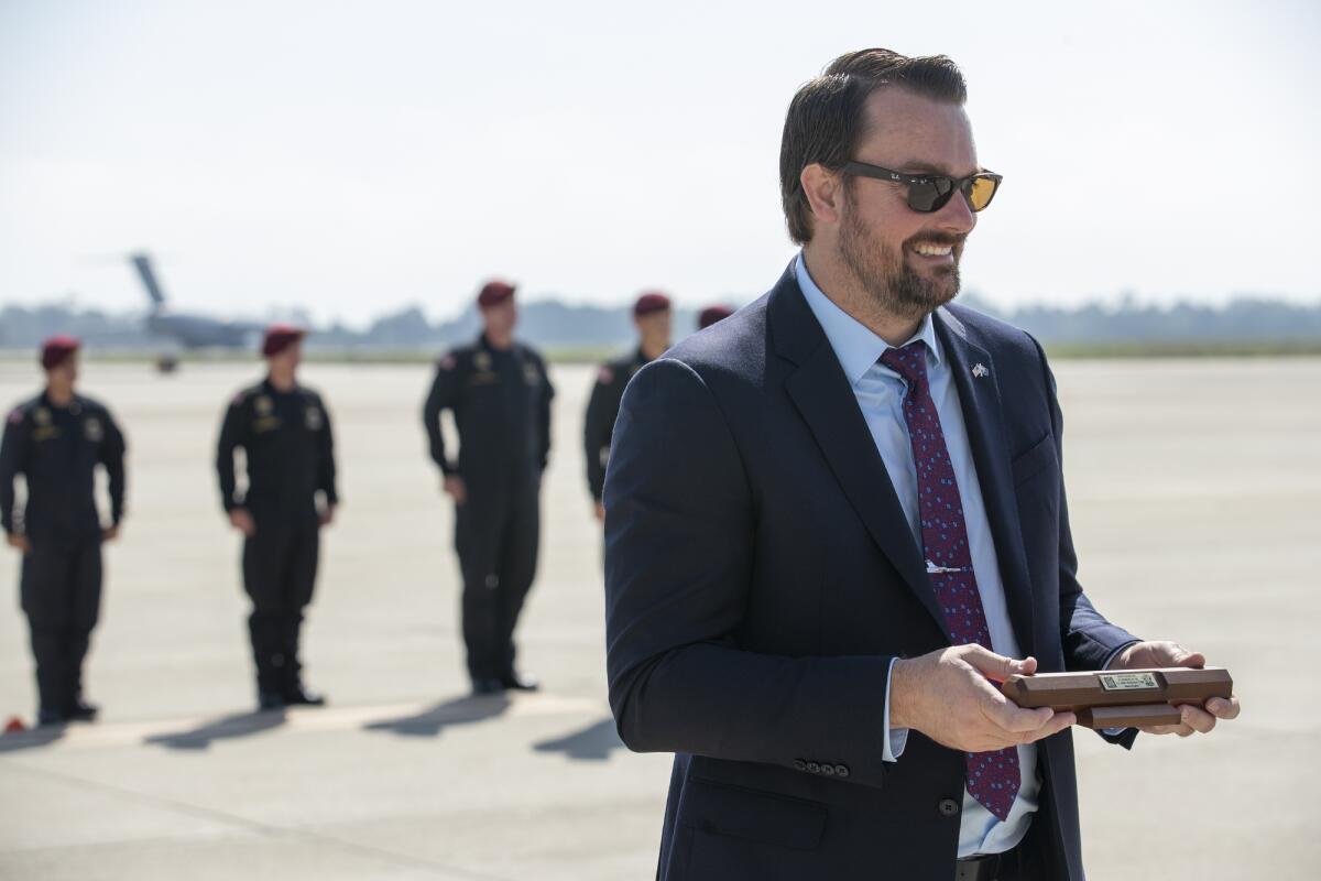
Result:
[[938,309],[934,320],[959,390],[963,424],[968,432],[968,445],[972,448],[972,461],[982,485],[982,501],[1000,561],[1009,621],[1018,638],[1018,649],[1029,655],[1036,649],[1032,637],[1032,579],[1028,575],[1013,474],[1009,469],[999,372],[991,354],[967,338],[963,322],[948,309]]

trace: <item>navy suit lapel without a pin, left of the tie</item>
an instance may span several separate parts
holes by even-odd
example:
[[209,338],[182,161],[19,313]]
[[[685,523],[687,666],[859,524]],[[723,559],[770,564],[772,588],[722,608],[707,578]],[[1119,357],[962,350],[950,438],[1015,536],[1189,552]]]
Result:
[[811,429],[844,495],[905,584],[926,606],[948,638],[945,614],[926,576],[926,564],[913,540],[885,462],[876,449],[853,390],[839,366],[816,317],[807,308],[793,267],[770,301],[771,334],[777,350],[798,367],[785,390]]

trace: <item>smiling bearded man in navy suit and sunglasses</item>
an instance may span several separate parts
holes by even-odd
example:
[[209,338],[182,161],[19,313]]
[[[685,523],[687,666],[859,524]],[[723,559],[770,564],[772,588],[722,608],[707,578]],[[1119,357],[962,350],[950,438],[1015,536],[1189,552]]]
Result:
[[1000,185],[964,95],[948,58],[884,49],[803,86],[781,148],[802,252],[625,394],[610,705],[631,749],[676,754],[662,878],[1081,880],[1075,720],[989,680],[1205,663],[1092,606],[1045,355],[951,305]]

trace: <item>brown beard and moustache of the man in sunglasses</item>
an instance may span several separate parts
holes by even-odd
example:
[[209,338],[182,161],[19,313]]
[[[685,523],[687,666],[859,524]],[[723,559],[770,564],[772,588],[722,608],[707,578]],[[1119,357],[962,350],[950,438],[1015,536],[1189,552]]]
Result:
[[[839,251],[844,265],[857,279],[873,304],[896,318],[919,320],[959,295],[959,255],[963,238],[925,232],[894,250],[873,244],[856,211],[845,209],[839,234]],[[954,247],[954,264],[942,267],[935,279],[925,279],[904,259],[905,248],[929,242]]]

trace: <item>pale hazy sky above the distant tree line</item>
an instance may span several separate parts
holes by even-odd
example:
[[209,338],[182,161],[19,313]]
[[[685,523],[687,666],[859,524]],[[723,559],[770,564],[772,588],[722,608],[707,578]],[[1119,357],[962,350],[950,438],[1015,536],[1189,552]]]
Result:
[[230,316],[745,301],[793,255],[789,99],[869,45],[968,81],[1005,182],[966,289],[1314,302],[1318,8],[0,0],[0,302],[139,308],[136,248]]

